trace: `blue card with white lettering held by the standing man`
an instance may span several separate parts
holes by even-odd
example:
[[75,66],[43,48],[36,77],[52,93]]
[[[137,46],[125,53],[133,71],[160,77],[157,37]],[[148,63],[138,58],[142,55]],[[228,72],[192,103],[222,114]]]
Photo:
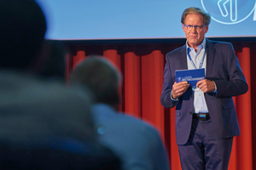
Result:
[[205,79],[205,69],[194,69],[194,70],[177,70],[176,82],[189,82],[192,88],[196,87],[196,83]]

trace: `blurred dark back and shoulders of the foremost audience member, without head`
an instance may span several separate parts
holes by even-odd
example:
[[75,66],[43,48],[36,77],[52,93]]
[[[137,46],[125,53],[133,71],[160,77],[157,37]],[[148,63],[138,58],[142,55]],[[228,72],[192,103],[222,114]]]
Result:
[[96,142],[88,93],[12,74],[0,81],[0,169],[119,169]]

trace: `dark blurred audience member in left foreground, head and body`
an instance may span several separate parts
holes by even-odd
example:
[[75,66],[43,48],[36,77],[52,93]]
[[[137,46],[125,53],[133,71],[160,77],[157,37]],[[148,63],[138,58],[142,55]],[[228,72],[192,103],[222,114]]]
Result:
[[0,0],[0,21],[0,169],[119,169],[97,140],[90,93],[33,76],[46,31],[38,3]]

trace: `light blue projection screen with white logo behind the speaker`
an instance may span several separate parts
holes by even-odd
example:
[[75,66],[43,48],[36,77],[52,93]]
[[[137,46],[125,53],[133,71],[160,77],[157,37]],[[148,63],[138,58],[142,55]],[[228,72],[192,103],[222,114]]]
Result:
[[181,14],[198,7],[212,16],[207,37],[256,37],[255,0],[37,0],[47,39],[184,37]]

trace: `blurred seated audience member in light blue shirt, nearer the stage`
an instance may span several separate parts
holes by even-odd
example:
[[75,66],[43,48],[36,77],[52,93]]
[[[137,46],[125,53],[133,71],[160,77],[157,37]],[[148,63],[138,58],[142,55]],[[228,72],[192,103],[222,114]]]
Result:
[[70,75],[70,82],[88,86],[96,94],[93,106],[102,144],[120,157],[124,170],[170,169],[158,131],[135,117],[119,114],[119,71],[102,57],[90,57]]

